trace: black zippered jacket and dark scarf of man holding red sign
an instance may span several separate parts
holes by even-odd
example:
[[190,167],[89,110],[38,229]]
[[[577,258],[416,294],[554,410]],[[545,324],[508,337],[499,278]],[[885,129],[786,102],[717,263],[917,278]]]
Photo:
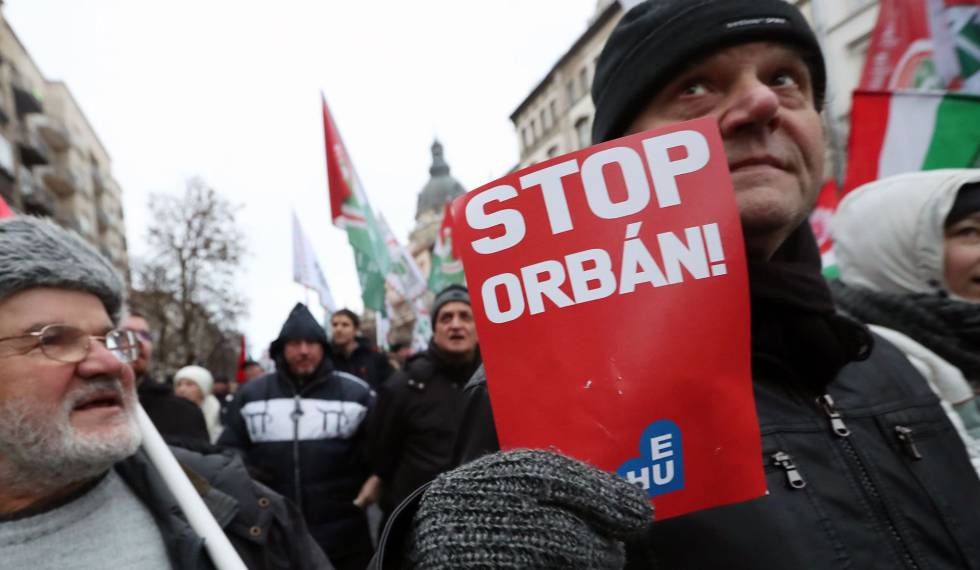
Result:
[[[769,494],[655,522],[627,568],[980,568],[980,481],[962,441],[904,355],[833,314],[801,229],[785,257],[750,267]],[[465,396],[463,461],[498,447],[485,380]],[[405,507],[372,568],[400,568]]]

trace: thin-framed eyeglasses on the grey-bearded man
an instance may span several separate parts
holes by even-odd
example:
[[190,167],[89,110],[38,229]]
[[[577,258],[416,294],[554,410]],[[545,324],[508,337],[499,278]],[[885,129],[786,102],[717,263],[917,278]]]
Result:
[[139,355],[136,335],[126,330],[115,330],[105,336],[93,336],[82,329],[68,325],[47,325],[37,332],[0,338],[0,342],[28,338],[36,339],[36,344],[31,348],[40,345],[44,356],[68,364],[85,360],[92,350],[93,340],[105,344],[106,349],[120,362],[132,362]]

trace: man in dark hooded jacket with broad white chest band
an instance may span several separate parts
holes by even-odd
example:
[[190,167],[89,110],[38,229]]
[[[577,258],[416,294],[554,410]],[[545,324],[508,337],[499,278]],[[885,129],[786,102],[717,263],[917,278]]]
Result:
[[369,475],[362,446],[374,392],[333,370],[328,347],[323,327],[298,303],[269,347],[276,371],[239,389],[218,444],[240,450],[296,503],[338,570],[361,570],[373,547],[354,499]]

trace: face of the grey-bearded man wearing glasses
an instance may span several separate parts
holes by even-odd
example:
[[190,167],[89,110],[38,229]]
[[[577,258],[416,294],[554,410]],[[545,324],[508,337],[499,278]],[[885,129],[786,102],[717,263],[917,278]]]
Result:
[[[0,301],[0,338],[49,324],[90,335],[112,330],[97,297],[38,288]],[[81,481],[128,457],[140,443],[133,372],[98,340],[81,362],[45,356],[34,339],[0,346],[0,473],[18,485]]]

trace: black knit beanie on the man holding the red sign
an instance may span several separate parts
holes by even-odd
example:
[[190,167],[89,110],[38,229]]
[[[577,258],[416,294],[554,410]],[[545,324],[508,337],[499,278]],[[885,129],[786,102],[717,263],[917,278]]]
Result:
[[810,68],[823,106],[827,74],[813,30],[785,0],[647,0],[623,16],[592,82],[592,142],[622,136],[643,106],[678,72],[720,48],[753,41],[790,44]]

